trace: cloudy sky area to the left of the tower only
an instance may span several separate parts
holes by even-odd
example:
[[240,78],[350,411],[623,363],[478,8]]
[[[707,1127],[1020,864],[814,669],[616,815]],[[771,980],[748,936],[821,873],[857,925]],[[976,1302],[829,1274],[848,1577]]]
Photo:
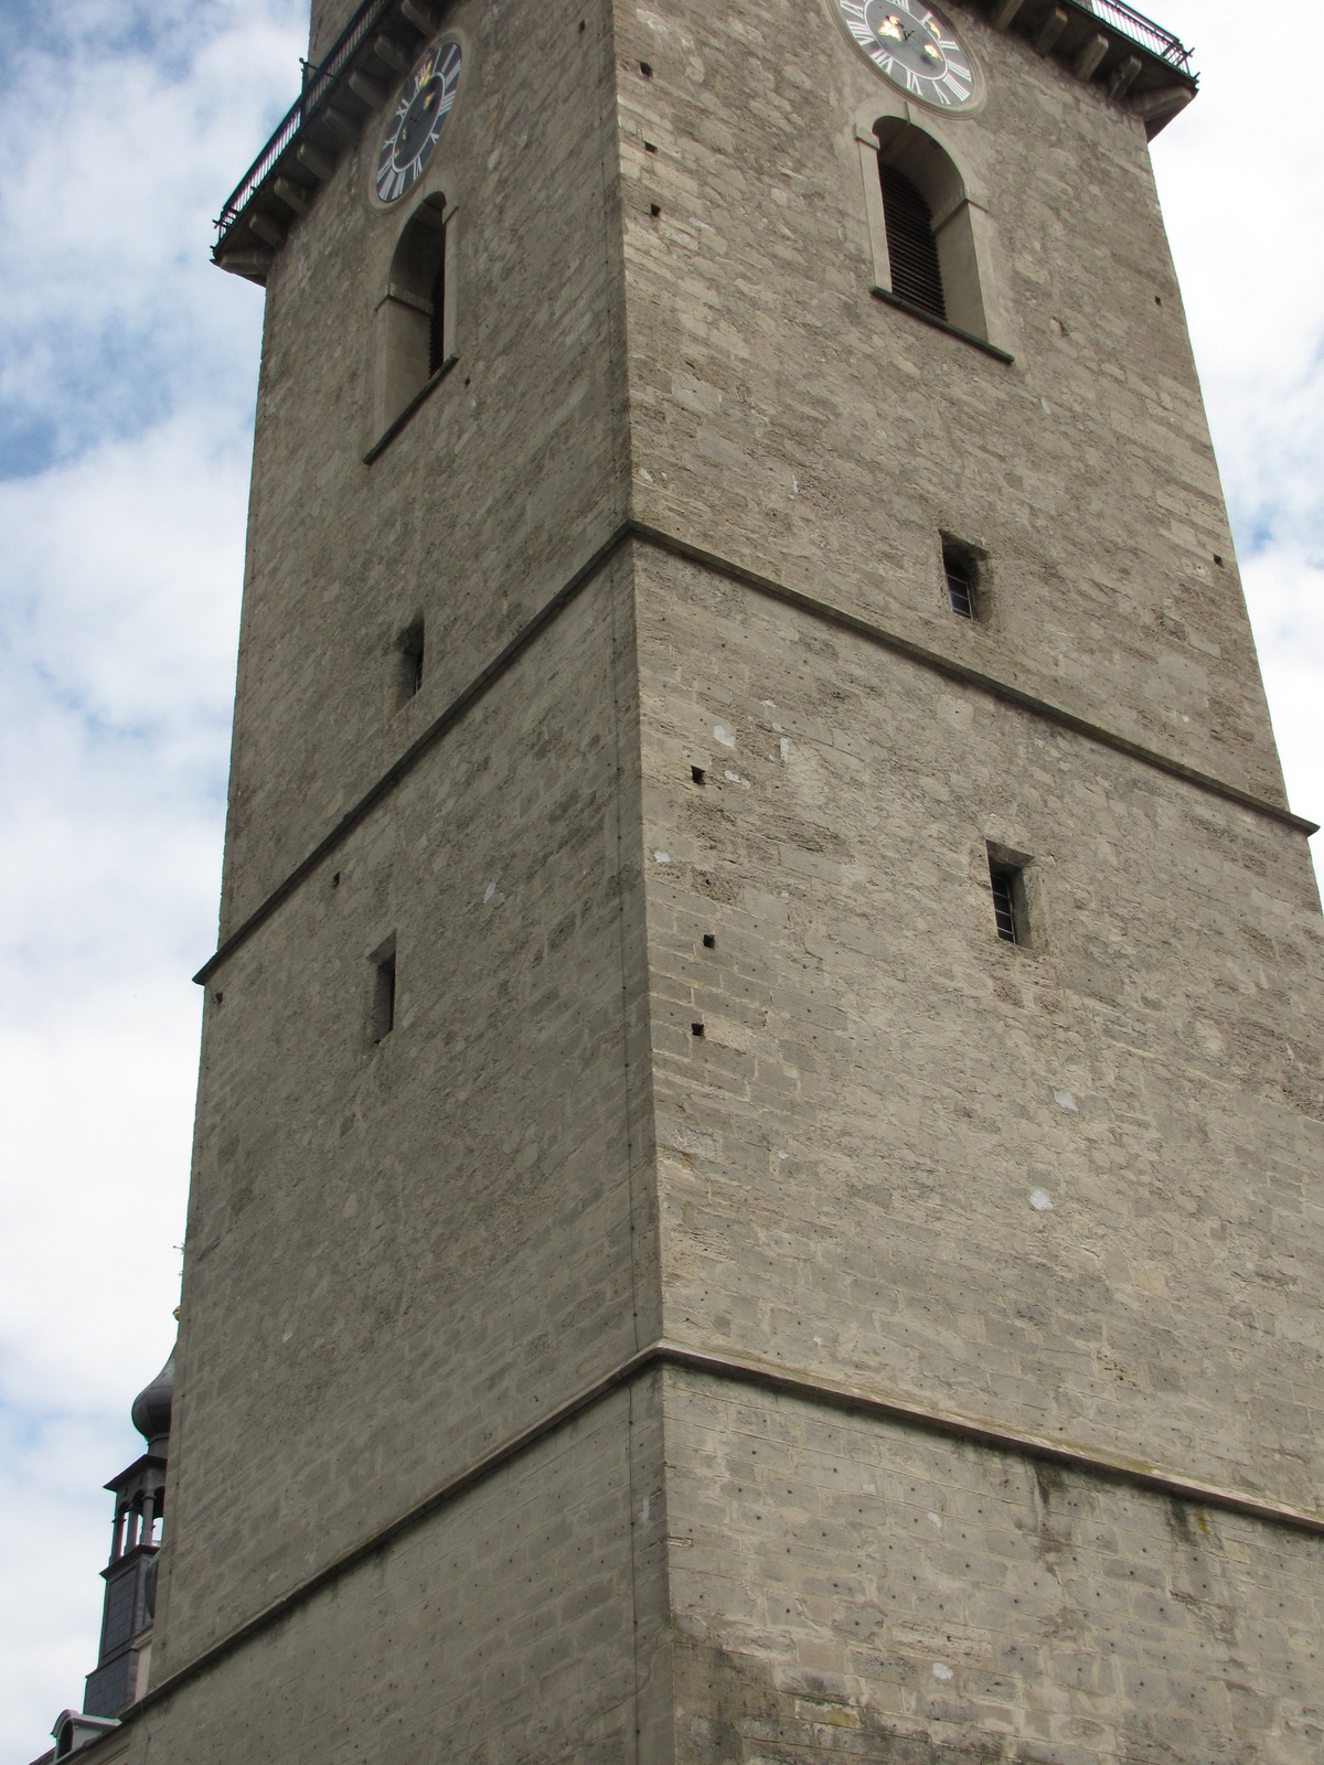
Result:
[[[210,217],[298,0],[7,21],[0,102],[0,1756],[95,1664],[129,1403],[166,1357],[215,935],[261,295]],[[51,116],[60,129],[51,132]]]

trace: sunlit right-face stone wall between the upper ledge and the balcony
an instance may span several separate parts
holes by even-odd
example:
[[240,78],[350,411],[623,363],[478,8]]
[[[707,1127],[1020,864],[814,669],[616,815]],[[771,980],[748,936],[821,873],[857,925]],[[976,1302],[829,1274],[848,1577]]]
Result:
[[1008,367],[870,298],[897,101],[830,11],[616,0],[637,514],[1282,800],[1140,122],[952,7],[987,106],[913,116],[987,203]]

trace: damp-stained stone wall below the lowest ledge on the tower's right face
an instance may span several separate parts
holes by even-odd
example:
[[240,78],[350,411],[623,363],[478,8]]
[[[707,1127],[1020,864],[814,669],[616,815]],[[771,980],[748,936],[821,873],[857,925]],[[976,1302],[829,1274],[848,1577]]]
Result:
[[678,1765],[1312,1765],[1320,1539],[666,1380]]

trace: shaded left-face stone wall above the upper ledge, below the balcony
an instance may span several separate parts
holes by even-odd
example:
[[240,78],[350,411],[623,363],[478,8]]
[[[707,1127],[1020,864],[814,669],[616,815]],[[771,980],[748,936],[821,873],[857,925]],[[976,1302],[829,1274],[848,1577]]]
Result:
[[[376,201],[369,118],[267,286],[222,935],[623,514],[607,11],[463,0],[447,28],[464,71],[418,191]],[[365,466],[376,305],[408,214],[438,192],[457,205],[459,362]],[[395,711],[417,616],[424,687]]]

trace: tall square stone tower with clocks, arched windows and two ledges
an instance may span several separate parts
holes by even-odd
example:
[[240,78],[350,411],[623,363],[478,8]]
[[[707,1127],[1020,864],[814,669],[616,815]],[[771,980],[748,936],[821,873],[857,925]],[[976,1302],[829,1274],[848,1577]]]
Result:
[[[927,60],[925,60],[927,56]],[[1275,1761],[1324,1073],[1116,0],[318,0],[99,1758]]]

